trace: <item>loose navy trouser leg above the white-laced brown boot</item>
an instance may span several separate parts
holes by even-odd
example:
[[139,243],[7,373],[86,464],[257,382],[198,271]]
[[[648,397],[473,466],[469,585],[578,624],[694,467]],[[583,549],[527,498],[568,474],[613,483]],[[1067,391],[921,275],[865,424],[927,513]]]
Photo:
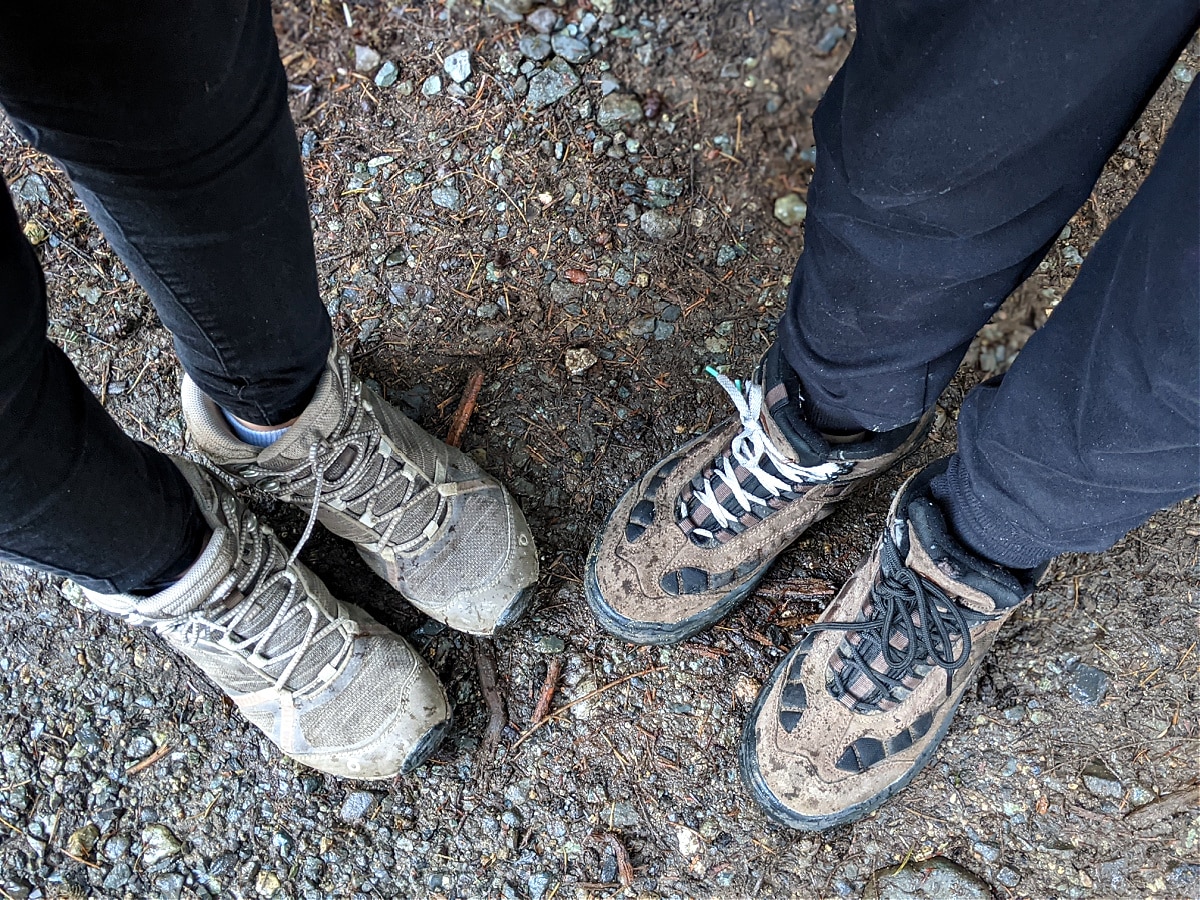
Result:
[[928,409],[1087,198],[1198,24],[1194,0],[860,0],[814,119],[779,340],[808,398],[883,431]]

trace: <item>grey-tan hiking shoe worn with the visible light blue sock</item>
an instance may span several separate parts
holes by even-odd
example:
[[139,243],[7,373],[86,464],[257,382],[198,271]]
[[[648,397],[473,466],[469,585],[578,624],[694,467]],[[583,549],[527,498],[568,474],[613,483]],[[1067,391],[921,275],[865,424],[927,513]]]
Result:
[[426,616],[492,635],[529,605],[538,551],[516,502],[470,457],[366,388],[336,344],[308,408],[268,448],[234,437],[187,377],[184,416],[212,462],[306,510],[310,528],[320,521],[353,541]]

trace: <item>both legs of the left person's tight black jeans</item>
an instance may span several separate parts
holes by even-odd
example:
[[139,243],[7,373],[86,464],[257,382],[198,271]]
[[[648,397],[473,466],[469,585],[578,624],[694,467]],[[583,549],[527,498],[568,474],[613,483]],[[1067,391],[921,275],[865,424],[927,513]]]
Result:
[[[298,414],[332,334],[266,2],[17,5],[0,13],[0,103],[70,173],[227,410]],[[0,199],[0,550],[97,590],[194,558],[178,469],[126,437],[46,337],[46,287]]]

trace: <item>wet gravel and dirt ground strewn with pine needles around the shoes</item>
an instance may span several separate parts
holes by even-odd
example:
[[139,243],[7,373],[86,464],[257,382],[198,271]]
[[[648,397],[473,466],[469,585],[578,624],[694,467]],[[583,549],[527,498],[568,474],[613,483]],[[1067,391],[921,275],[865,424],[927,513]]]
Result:
[[[738,734],[904,473],[708,634],[647,649],[598,632],[580,583],[590,535],[630,479],[726,415],[703,366],[749,371],[769,342],[802,246],[809,116],[853,16],[523,1],[284,2],[277,24],[338,335],[434,433],[484,370],[466,446],[541,536],[532,614],[490,646],[439,630],[314,536],[312,568],[410,635],[457,707],[413,776],[338,782],[282,760],[70,583],[0,571],[0,898],[1200,895],[1195,502],[1056,560],[936,761],[823,835],[764,821],[736,775]],[[1198,49],[983,329],[922,458],[953,445],[964,392],[1012,362],[1148,172]],[[52,336],[131,433],[185,449],[149,301],[53,163],[0,140]],[[295,514],[251,500],[299,535]],[[502,673],[496,743],[481,659]],[[558,666],[559,712],[532,731]]]

